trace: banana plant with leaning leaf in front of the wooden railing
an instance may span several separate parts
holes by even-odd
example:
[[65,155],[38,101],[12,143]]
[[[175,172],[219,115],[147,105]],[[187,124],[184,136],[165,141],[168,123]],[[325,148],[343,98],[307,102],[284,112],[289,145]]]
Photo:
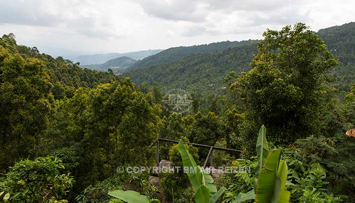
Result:
[[194,188],[196,203],[215,203],[224,193],[225,188],[217,191],[211,175],[196,164],[182,141],[179,142],[178,149],[183,159],[184,168],[187,168],[187,175]]

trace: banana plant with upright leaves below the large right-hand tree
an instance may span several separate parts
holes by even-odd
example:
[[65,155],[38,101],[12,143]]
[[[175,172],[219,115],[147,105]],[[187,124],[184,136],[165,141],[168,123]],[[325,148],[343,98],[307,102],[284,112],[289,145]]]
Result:
[[259,130],[256,145],[258,164],[255,170],[254,189],[247,193],[239,193],[233,203],[241,203],[255,199],[256,203],[287,203],[290,192],[286,191],[288,167],[281,160],[281,150],[270,152],[266,141],[266,127]]

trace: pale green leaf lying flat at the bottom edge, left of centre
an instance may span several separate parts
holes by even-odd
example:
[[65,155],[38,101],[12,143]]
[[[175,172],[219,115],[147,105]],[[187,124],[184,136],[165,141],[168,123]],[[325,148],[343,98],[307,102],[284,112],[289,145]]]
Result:
[[109,195],[122,199],[123,201],[126,201],[128,203],[149,203],[149,197],[145,195],[141,195],[136,191],[128,190],[128,191],[122,191],[122,190],[115,190],[115,191],[110,191]]

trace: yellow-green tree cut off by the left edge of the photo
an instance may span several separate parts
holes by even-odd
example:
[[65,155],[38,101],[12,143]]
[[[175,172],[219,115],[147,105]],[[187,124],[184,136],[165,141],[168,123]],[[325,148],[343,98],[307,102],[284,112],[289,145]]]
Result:
[[42,61],[0,46],[0,170],[38,155],[48,127],[51,87]]

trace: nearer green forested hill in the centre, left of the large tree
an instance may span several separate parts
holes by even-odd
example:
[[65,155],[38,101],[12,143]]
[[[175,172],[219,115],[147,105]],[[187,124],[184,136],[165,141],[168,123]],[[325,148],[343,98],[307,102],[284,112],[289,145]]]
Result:
[[136,83],[159,82],[164,89],[186,88],[196,92],[224,89],[224,78],[230,71],[248,71],[257,45],[237,46],[223,51],[194,54],[179,61],[161,63],[143,69],[131,69],[124,76]]

